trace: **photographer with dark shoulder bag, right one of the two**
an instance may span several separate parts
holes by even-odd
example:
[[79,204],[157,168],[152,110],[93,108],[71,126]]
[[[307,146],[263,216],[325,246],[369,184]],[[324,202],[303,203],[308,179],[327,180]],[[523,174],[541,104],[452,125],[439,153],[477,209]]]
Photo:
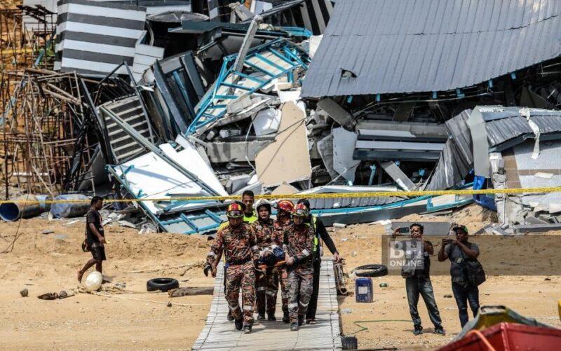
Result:
[[468,302],[473,312],[473,317],[479,310],[479,289],[475,284],[468,282],[468,267],[466,259],[477,259],[479,247],[473,242],[468,242],[468,228],[454,226],[452,228],[456,239],[444,238],[438,251],[438,261],[450,259],[450,276],[452,277],[452,291],[458,305],[461,327],[468,322]]

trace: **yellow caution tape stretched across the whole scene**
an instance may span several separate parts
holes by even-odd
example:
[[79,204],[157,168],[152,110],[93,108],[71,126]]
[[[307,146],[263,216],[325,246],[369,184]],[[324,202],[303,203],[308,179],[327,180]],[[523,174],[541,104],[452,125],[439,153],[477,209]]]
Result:
[[[395,196],[417,197],[417,196],[439,196],[439,195],[482,195],[482,194],[520,194],[520,193],[555,193],[561,192],[561,187],[553,188],[509,188],[509,189],[454,189],[454,190],[435,190],[435,191],[371,191],[364,193],[321,193],[321,194],[289,194],[289,195],[255,195],[256,199],[330,199],[330,198],[389,198]],[[241,195],[228,196],[187,196],[187,197],[168,197],[168,198],[140,198],[140,199],[104,199],[104,202],[171,202],[171,201],[224,201],[241,200]],[[55,204],[55,203],[81,203],[90,200],[0,200],[0,205],[4,203],[17,203],[22,205],[31,204]]]

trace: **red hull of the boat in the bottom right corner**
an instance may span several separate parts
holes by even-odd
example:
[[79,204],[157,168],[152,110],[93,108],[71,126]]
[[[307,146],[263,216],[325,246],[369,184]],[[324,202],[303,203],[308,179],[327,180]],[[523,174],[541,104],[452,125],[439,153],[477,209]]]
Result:
[[[501,323],[481,331],[496,351],[559,351],[561,329],[544,328],[515,323]],[[489,347],[475,333],[454,341],[438,351],[487,351]]]

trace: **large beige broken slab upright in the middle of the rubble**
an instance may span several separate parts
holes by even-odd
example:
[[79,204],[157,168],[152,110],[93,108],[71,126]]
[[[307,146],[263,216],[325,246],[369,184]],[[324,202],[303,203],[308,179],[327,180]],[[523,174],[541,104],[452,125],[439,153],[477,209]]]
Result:
[[257,178],[267,187],[311,177],[306,113],[294,102],[283,104],[281,113],[275,141],[255,156]]

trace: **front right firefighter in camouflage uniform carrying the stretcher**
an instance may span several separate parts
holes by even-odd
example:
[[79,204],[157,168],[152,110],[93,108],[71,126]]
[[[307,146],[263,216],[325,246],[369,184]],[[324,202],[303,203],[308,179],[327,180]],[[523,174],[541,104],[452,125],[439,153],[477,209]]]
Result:
[[303,204],[292,212],[292,225],[283,230],[283,249],[287,255],[288,310],[290,330],[297,331],[304,322],[313,284],[313,229],[304,220],[309,212]]

